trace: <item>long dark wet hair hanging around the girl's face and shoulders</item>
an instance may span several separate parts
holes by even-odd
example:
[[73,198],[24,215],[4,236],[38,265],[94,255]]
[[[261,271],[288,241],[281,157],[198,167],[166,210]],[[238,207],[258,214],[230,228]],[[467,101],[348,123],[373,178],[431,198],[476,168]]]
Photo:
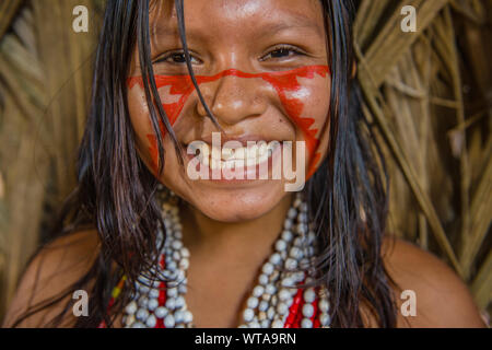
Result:
[[[372,126],[362,113],[362,95],[353,79],[352,25],[356,11],[352,0],[320,0],[332,71],[330,143],[328,156],[308,180],[309,215],[321,246],[315,267],[317,283],[330,291],[332,326],[363,326],[361,304],[366,304],[382,327],[396,325],[390,279],[382,260],[387,215],[387,178]],[[136,46],[144,91],[155,133],[161,170],[164,149],[160,125],[176,147],[178,142],[160,102],[150,57],[150,0],[108,0],[96,56],[92,109],[80,147],[79,186],[67,200],[56,231],[69,234],[83,225],[95,228],[102,248],[91,270],[73,290],[93,282],[90,316],[77,327],[96,327],[103,319],[112,326],[106,310],[113,287],[127,283],[113,306],[116,313],[133,293],[133,281],[156,264],[156,231],[160,209],[153,200],[156,178],[138,156],[127,106],[127,77]],[[183,0],[175,1],[185,56],[196,84],[184,34]],[[198,85],[196,84],[197,91]],[[203,103],[202,96],[199,97]],[[209,117],[212,113],[203,103]],[[113,268],[116,261],[118,268]],[[61,301],[63,295],[50,304]],[[71,303],[71,302],[70,302]],[[56,326],[70,308],[51,323]],[[46,307],[46,306],[44,306]],[[30,311],[19,322],[39,311]],[[19,323],[17,322],[17,323]]]

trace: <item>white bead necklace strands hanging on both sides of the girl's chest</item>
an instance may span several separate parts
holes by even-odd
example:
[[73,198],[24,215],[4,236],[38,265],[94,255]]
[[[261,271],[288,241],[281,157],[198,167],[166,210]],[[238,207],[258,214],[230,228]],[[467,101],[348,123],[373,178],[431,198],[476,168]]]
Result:
[[[154,328],[157,319],[162,319],[166,328],[191,328],[194,316],[187,308],[185,294],[187,292],[186,271],[189,267],[189,250],[183,244],[183,226],[179,221],[179,210],[176,205],[163,202],[163,222],[166,229],[164,248],[161,259],[164,268],[159,266],[151,272],[160,273],[166,279],[166,302],[160,305],[161,281],[151,281],[141,276],[137,282],[137,293],[126,306],[124,324],[127,328]],[[295,222],[294,222],[295,219]],[[160,230],[157,243],[161,244],[163,233]],[[284,221],[284,230],[274,244],[274,252],[263,264],[258,284],[253,289],[243,312],[243,328],[283,328],[294,296],[298,290],[293,285],[312,278],[304,271],[282,271],[305,267],[316,254],[315,234],[308,231],[307,205],[297,195]],[[155,276],[155,275],[152,275]],[[291,288],[289,288],[291,287]],[[303,292],[304,306],[301,312],[302,328],[313,328],[315,313],[314,303],[318,296],[319,326],[330,325],[328,292],[320,288],[319,295],[314,288]],[[298,303],[298,300],[297,300]]]

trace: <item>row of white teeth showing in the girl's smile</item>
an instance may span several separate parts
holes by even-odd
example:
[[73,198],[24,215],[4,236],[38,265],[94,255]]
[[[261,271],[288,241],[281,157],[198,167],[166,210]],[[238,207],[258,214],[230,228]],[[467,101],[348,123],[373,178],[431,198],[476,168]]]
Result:
[[248,147],[236,149],[211,148],[209,144],[201,142],[198,147],[190,145],[194,152],[200,150],[200,162],[213,170],[232,170],[234,167],[254,166],[268,161],[269,156],[280,145],[279,142],[260,142]]

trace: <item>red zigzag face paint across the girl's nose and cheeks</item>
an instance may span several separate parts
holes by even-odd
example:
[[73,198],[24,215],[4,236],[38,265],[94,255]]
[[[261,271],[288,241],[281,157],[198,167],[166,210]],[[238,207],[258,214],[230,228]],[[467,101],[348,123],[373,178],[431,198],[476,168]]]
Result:
[[[307,178],[309,178],[316,172],[321,158],[321,154],[318,152],[319,139],[317,133],[319,130],[313,128],[313,125],[315,124],[314,118],[302,116],[304,109],[303,100],[298,97],[289,98],[288,94],[296,92],[302,88],[301,83],[297,81],[297,78],[314,79],[316,74],[326,78],[329,73],[330,71],[328,66],[307,66],[290,71],[258,74],[250,74],[236,69],[230,69],[212,77],[197,75],[196,79],[199,85],[202,83],[216,81],[227,75],[234,75],[244,79],[262,79],[263,81],[270,83],[277,91],[279,98],[282,102],[282,105],[291,120],[304,132],[306,149],[311,159],[307,172]],[[128,86],[130,89],[136,84],[140,84],[140,86],[143,89],[143,80],[141,77],[134,77],[128,80]],[[180,115],[186,101],[195,91],[191,77],[155,75],[155,84],[157,89],[169,86],[169,94],[180,95],[179,100],[176,103],[163,104],[164,110],[169,118],[169,124],[173,126]],[[162,125],[161,132],[163,132],[164,135],[164,127]],[[156,164],[159,162],[157,139],[154,135],[149,135],[148,139],[152,144],[152,147],[150,148],[150,152],[152,159],[154,160],[154,170],[156,170]],[[157,171],[155,171],[155,173],[157,173]]]

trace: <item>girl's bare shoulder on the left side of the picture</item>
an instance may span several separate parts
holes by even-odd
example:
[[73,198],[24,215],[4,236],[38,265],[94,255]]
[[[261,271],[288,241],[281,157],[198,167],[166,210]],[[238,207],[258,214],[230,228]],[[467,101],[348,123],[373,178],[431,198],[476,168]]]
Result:
[[[94,262],[99,248],[95,231],[83,231],[56,238],[43,247],[27,265],[16,293],[7,312],[3,327],[45,327],[65,307],[71,295],[68,289],[85,275]],[[63,294],[66,294],[63,296]],[[43,307],[17,325],[21,315],[39,303],[58,302]],[[34,310],[35,310],[34,308]],[[70,327],[73,319],[63,320]]]

